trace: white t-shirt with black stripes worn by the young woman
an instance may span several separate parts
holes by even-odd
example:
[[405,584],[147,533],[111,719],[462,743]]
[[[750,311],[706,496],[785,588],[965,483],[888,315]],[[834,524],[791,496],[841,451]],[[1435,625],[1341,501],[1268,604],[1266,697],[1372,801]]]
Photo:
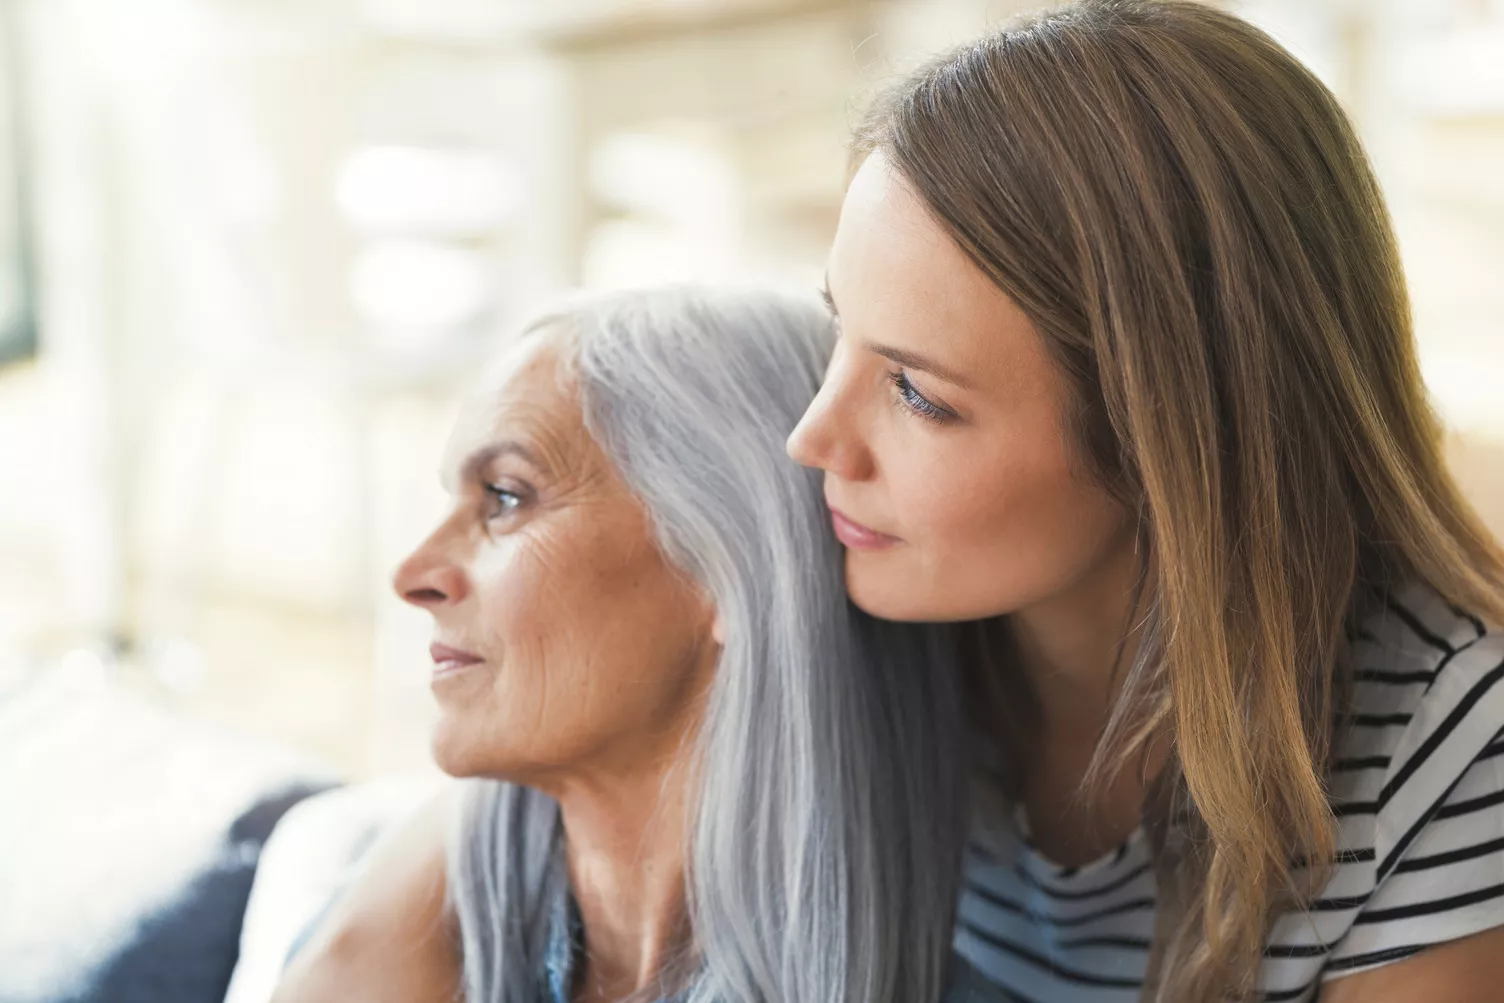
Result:
[[[1354,654],[1337,868],[1310,910],[1277,920],[1266,1000],[1308,1001],[1324,980],[1504,926],[1504,632],[1408,586]],[[1017,820],[969,853],[957,949],[1017,1000],[1137,1000],[1155,910],[1143,829],[1063,868]]]

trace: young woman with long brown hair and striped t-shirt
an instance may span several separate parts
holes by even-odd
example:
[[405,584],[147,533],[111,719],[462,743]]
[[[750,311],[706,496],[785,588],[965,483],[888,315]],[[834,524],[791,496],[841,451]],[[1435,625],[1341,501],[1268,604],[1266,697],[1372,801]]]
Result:
[[1041,1001],[1501,998],[1504,558],[1331,93],[1086,0],[857,152],[790,451],[859,606],[978,621],[961,950]]

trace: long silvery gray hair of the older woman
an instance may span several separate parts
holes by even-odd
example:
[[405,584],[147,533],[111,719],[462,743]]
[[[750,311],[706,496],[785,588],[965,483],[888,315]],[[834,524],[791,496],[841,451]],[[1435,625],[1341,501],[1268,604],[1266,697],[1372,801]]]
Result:
[[[845,598],[820,477],[784,441],[833,344],[814,298],[671,287],[535,322],[585,426],[725,632],[695,750],[693,1003],[925,1003],[966,835],[949,644]],[[567,887],[558,806],[472,780],[448,889],[469,1003],[534,1003]]]

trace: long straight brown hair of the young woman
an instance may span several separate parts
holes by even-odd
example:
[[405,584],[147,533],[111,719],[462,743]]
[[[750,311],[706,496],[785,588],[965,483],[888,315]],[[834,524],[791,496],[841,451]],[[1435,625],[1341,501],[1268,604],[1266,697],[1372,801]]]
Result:
[[1084,466],[1140,514],[1152,642],[1087,780],[1172,738],[1145,998],[1245,998],[1272,920],[1330,874],[1355,620],[1418,579],[1504,621],[1367,158],[1278,44],[1175,0],[1084,0],[948,53],[874,107],[872,150],[1033,320]]

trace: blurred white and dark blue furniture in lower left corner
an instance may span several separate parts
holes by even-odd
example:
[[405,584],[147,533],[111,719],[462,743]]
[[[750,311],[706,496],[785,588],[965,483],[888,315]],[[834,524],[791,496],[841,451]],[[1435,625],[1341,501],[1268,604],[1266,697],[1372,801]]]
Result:
[[337,779],[96,669],[0,692],[0,1001],[220,1003],[263,844]]

